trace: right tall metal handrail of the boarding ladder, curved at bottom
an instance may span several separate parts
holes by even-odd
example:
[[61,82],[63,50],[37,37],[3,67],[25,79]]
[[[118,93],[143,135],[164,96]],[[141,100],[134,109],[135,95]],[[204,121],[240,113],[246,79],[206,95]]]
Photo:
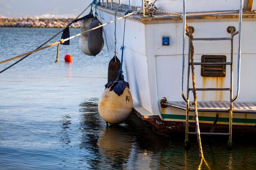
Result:
[[238,26],[238,61],[237,61],[237,90],[236,90],[236,96],[232,98],[230,102],[234,102],[240,92],[240,61],[241,61],[241,22],[242,22],[242,5],[243,5],[243,0],[240,0],[240,9],[239,9],[239,26]]

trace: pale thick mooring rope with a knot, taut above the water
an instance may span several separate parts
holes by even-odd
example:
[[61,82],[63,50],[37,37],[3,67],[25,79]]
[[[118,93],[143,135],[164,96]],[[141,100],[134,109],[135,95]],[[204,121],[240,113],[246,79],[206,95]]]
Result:
[[[25,53],[25,54],[21,54],[21,55],[19,55],[19,56],[16,56],[16,57],[13,57],[13,58],[10,58],[10,59],[1,61],[0,64],[6,63],[6,62],[8,62],[8,61],[12,61],[12,60],[14,60],[14,59],[18,59],[18,58],[20,58],[20,57],[24,57],[24,56],[26,56],[26,55],[29,55],[29,54],[32,54],[32,53],[34,53],[34,52],[43,50],[43,49],[45,49],[45,48],[49,48],[49,47],[58,45],[58,44],[60,44],[60,43],[62,43],[62,42],[65,42],[65,41],[67,41],[67,40],[70,40],[70,39],[73,39],[73,38],[75,38],[75,37],[78,37],[78,36],[80,36],[80,35],[82,35],[82,34],[84,34],[84,33],[87,33],[87,32],[89,32],[89,31],[96,30],[97,28],[100,28],[100,27],[102,27],[102,26],[106,26],[107,24],[110,24],[110,23],[115,22],[115,21],[117,21],[117,20],[120,20],[120,19],[122,19],[122,18],[128,17],[128,16],[130,16],[130,15],[132,15],[132,14],[134,14],[134,13],[137,13],[137,12],[139,12],[139,11],[141,11],[141,9],[140,9],[140,10],[137,10],[137,11],[135,11],[135,12],[132,12],[132,13],[128,13],[127,15],[124,15],[124,16],[122,16],[122,17],[119,17],[119,18],[117,18],[116,20],[112,20],[112,21],[110,21],[110,22],[107,22],[107,23],[102,24],[102,25],[100,25],[100,26],[94,27],[94,28],[92,28],[92,29],[90,29],[90,30],[87,30],[87,31],[84,31],[84,32],[82,32],[82,33],[76,34],[76,35],[71,36],[71,37],[69,37],[69,38],[61,39],[60,41],[54,42],[54,43],[49,44],[49,45],[47,45],[47,46],[44,46],[44,47],[41,47],[41,48],[37,48],[36,50],[27,52],[27,53]],[[0,72],[0,73],[1,73],[1,72]]]

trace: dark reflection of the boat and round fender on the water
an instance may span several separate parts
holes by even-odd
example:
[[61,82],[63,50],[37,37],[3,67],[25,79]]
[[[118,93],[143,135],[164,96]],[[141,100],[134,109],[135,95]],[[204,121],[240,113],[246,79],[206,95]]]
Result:
[[[82,135],[79,146],[84,151],[79,161],[88,164],[88,168],[197,169],[200,165],[196,137],[191,138],[191,148],[186,150],[182,142],[183,135],[158,135],[135,114],[120,125],[107,126],[99,116],[97,102],[97,98],[91,98],[80,105]],[[210,168],[233,169],[241,164],[247,169],[255,168],[250,163],[252,157],[248,157],[255,155],[253,144],[247,147],[237,144],[228,150],[225,141],[220,138],[202,141],[204,156]],[[205,163],[202,163],[201,168],[208,169]]]

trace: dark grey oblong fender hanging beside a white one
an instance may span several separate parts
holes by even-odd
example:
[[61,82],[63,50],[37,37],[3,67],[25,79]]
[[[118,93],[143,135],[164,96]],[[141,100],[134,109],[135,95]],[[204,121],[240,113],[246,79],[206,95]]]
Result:
[[[89,24],[88,29],[95,28],[97,26],[100,26],[101,22],[99,20],[92,20]],[[96,56],[101,52],[103,46],[104,46],[104,40],[102,37],[102,27],[97,28],[93,31],[88,32],[88,49],[90,50],[90,53],[93,56]]]

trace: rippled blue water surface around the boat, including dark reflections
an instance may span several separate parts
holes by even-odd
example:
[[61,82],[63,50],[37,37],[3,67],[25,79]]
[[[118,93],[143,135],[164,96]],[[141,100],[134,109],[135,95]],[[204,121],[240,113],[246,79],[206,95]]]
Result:
[[[0,28],[0,60],[34,50],[58,31]],[[107,81],[106,44],[97,57],[89,57],[78,41],[60,46],[58,66],[54,46],[0,74],[0,169],[198,169],[194,137],[186,150],[183,135],[157,135],[135,115],[107,127],[97,110]],[[64,62],[65,54],[73,56],[72,63]],[[209,167],[255,170],[254,138],[234,139],[231,150],[226,137],[203,138]],[[208,169],[205,163],[201,168]]]

